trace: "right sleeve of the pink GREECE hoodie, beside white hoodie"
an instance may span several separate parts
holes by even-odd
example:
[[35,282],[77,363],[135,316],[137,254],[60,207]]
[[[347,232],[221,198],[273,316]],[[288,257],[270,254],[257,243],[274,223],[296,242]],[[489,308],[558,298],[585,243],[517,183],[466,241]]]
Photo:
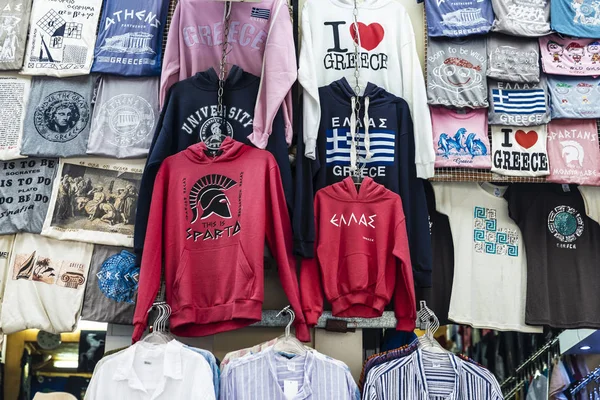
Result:
[[[286,119],[289,119],[286,122],[293,120],[292,110],[285,102],[298,76],[293,26],[286,0],[277,2],[274,14],[265,45],[263,73],[254,110],[254,129],[248,136],[248,139],[261,149],[267,147],[273,130],[273,120],[282,105],[287,112]],[[288,143],[291,143],[291,134],[292,126],[288,124],[286,127],[286,140],[288,136],[290,140]]]

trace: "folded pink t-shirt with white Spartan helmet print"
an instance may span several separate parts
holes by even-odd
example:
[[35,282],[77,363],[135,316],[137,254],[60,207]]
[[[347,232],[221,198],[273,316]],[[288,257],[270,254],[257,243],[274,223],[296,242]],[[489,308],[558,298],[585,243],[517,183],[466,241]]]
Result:
[[596,120],[553,120],[548,124],[548,157],[549,182],[597,185],[600,150]]

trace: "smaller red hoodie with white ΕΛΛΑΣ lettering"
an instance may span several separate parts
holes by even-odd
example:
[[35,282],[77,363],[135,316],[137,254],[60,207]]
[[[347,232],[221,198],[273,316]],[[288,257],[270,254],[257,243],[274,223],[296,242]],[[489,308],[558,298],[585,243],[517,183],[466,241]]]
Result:
[[315,258],[302,261],[302,306],[316,325],[323,290],[336,317],[380,317],[394,298],[396,329],[415,328],[410,252],[400,196],[351,177],[315,196]]

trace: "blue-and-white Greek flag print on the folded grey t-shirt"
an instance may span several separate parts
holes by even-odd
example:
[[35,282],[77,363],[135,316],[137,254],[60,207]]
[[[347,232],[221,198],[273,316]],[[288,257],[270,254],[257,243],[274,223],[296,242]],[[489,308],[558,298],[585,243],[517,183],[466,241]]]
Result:
[[506,114],[537,114],[546,112],[544,89],[492,89],[494,111]]

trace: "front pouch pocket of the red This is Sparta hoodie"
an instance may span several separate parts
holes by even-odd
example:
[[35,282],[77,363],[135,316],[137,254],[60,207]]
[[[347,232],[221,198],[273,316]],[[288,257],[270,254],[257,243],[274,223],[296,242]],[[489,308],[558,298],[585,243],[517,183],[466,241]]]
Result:
[[175,279],[180,306],[207,308],[249,299],[254,271],[240,244],[218,249],[184,249]]

